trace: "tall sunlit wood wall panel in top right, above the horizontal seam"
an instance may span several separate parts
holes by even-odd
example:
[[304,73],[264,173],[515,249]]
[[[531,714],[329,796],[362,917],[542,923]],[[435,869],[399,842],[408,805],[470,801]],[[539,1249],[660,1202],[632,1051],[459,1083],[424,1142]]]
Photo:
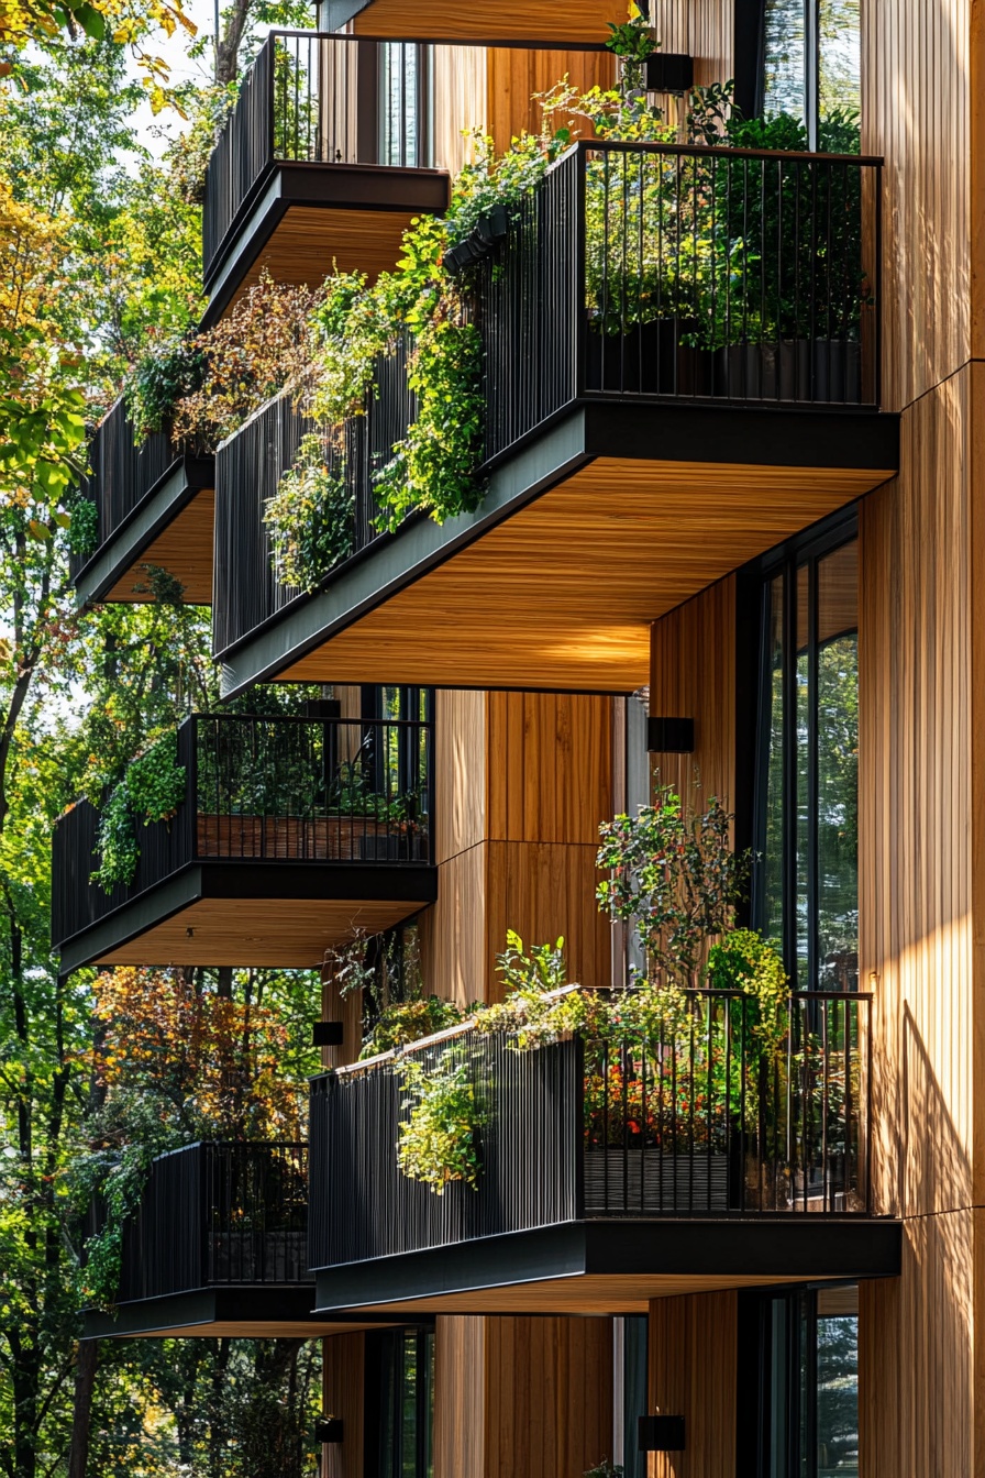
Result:
[[[972,278],[972,167],[981,168],[981,35],[972,0],[861,6],[862,151],[885,155],[883,405],[901,409],[970,350],[972,293],[981,293],[982,234]],[[981,27],[981,18],[976,16]],[[973,38],[978,46],[972,47]],[[976,157],[972,163],[972,129]],[[978,179],[978,174],[976,174]],[[979,341],[975,353],[981,355]]]

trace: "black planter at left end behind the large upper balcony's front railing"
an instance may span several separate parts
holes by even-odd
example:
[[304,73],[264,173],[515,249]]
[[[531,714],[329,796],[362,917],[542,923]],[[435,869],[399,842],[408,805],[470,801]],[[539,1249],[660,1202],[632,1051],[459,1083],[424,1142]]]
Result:
[[585,350],[585,389],[610,395],[710,395],[712,355],[681,343],[697,324],[657,318],[625,334],[603,334],[591,324]]

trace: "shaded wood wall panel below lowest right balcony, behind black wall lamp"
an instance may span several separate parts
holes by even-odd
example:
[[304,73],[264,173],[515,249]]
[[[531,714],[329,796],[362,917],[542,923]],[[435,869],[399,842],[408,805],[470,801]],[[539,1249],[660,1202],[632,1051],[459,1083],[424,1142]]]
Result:
[[684,1417],[687,1448],[651,1453],[648,1478],[735,1478],[737,1341],[735,1293],[650,1305],[650,1410]]

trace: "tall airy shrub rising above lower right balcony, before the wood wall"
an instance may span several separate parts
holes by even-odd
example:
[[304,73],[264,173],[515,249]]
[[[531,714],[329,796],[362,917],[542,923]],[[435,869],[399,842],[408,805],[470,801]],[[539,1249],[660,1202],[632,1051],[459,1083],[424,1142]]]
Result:
[[638,816],[600,828],[598,866],[610,876],[598,885],[598,903],[635,928],[666,984],[696,986],[707,944],[732,927],[752,856],[732,850],[731,822],[716,797],[688,813],[662,785]]

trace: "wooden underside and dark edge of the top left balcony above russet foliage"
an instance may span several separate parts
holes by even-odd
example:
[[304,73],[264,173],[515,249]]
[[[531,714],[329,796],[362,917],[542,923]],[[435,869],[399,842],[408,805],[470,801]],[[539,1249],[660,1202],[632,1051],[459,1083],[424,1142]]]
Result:
[[316,287],[337,266],[377,278],[394,266],[411,220],[443,211],[449,176],[382,164],[276,164],[241,211],[205,281],[214,324],[266,268],[275,282]]

